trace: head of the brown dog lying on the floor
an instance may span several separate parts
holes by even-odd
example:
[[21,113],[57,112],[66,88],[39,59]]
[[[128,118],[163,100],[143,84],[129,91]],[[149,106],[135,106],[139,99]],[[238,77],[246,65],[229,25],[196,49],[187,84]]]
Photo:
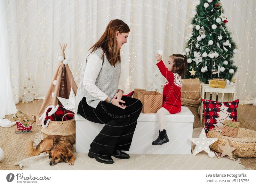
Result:
[[53,148],[49,152],[50,165],[56,165],[59,162],[68,162],[68,153],[62,148]]

